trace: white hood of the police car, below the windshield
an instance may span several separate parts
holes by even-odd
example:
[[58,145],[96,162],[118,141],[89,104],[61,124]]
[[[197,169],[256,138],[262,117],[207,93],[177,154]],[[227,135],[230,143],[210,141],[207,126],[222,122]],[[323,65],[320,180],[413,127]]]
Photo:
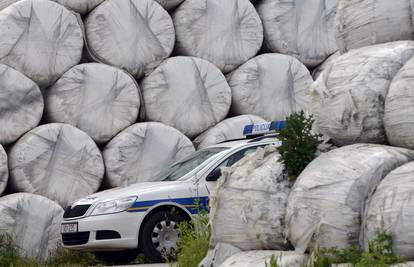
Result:
[[183,181],[173,181],[173,182],[145,182],[132,184],[127,187],[116,187],[109,190],[104,190],[99,193],[89,195],[85,198],[82,198],[72,206],[75,205],[85,205],[85,204],[94,204],[97,202],[109,201],[112,199],[118,199],[123,197],[130,196],[139,196],[145,193],[152,193],[155,189],[157,190],[168,190],[168,188],[176,187],[177,184],[183,183]]

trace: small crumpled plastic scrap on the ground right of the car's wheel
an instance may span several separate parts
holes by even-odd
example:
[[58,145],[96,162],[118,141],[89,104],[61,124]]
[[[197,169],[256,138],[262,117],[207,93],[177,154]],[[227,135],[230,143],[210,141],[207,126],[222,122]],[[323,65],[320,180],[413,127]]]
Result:
[[226,243],[218,243],[214,248],[209,249],[206,257],[201,261],[198,267],[217,267],[226,259],[236,253],[241,252],[239,248]]

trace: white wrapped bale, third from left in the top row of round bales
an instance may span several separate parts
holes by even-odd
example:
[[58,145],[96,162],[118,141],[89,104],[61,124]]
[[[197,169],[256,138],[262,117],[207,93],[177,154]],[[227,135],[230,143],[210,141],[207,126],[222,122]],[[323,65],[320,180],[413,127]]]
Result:
[[184,1],[173,13],[176,50],[230,72],[254,57],[263,43],[263,26],[249,0]]

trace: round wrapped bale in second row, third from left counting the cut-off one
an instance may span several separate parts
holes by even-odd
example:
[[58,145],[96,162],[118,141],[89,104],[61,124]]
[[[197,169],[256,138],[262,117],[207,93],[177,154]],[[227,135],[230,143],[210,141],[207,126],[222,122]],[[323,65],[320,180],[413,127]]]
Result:
[[167,59],[141,87],[147,120],[170,125],[191,138],[223,120],[231,105],[224,75],[194,57]]

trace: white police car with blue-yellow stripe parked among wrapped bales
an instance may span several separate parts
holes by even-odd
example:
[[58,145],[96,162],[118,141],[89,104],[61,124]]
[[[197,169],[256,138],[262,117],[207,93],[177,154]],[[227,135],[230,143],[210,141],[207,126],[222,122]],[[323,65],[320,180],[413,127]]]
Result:
[[201,149],[155,179],[83,198],[65,210],[61,224],[66,248],[125,251],[137,248],[153,262],[177,247],[177,224],[208,206],[208,196],[229,167],[258,147],[279,146],[273,134],[284,122],[248,125],[245,139]]

